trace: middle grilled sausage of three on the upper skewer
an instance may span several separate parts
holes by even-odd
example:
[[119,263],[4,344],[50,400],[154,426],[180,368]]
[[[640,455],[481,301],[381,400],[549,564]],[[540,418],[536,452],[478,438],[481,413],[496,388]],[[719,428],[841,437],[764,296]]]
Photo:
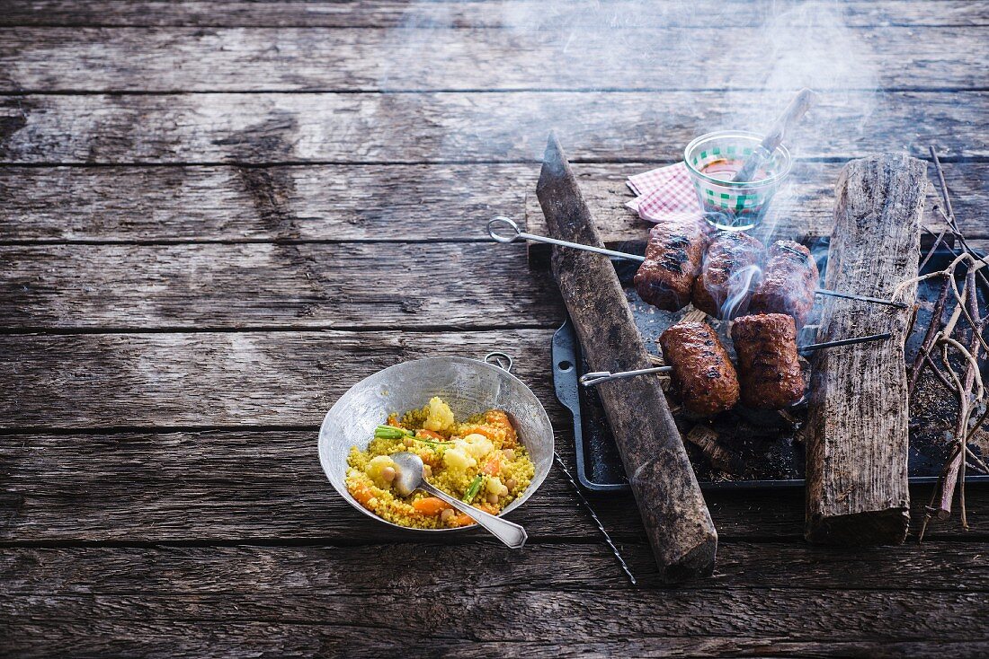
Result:
[[745,313],[759,281],[763,250],[763,243],[744,233],[716,233],[693,282],[693,305],[722,320]]

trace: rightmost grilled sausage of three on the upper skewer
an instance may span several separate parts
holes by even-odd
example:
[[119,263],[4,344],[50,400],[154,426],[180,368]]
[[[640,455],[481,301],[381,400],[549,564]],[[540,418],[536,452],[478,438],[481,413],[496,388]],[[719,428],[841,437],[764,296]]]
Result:
[[785,313],[798,328],[807,322],[820,278],[810,250],[792,240],[777,240],[769,248],[763,281],[749,303],[751,313]]

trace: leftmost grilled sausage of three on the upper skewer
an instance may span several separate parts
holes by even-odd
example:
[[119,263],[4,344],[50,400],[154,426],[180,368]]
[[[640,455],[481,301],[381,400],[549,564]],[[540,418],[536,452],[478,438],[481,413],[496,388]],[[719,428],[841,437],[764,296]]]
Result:
[[646,261],[633,280],[639,296],[667,311],[678,311],[689,304],[705,243],[698,221],[654,226],[649,232]]

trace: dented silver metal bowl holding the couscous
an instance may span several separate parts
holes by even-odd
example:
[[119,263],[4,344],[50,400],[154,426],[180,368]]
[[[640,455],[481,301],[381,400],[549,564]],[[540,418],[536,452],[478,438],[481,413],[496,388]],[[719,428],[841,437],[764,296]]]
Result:
[[[508,368],[510,369],[510,362]],[[422,407],[433,396],[443,398],[458,419],[490,409],[504,410],[518,439],[536,466],[532,482],[501,514],[518,508],[532,496],[553,463],[553,426],[529,387],[505,369],[463,357],[433,357],[397,364],[365,377],[340,396],[319,428],[319,462],[340,496],[365,515],[396,529],[418,532],[459,529],[408,529],[392,524],[361,506],[347,491],[344,478],[351,447],[367,449],[375,428],[392,412]]]

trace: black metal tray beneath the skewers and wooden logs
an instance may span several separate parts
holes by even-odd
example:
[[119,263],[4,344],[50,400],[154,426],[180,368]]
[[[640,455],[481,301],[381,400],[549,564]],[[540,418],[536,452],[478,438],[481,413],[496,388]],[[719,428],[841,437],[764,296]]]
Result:
[[[644,245],[625,245],[623,251],[643,253]],[[826,251],[826,250],[825,250]],[[954,258],[947,249],[939,250],[925,267],[925,272],[943,270]],[[631,288],[637,264],[615,261],[619,279],[626,287],[632,315],[645,339],[647,349],[659,354],[656,339],[663,331],[674,324],[683,312],[661,311],[642,301]],[[819,264],[823,274],[827,263]],[[959,269],[959,277],[964,271]],[[918,299],[926,300],[918,311],[917,322],[907,339],[907,363],[913,361],[923,341],[923,335],[931,321],[932,306],[939,292],[938,282],[922,282],[918,289]],[[986,291],[979,288],[980,308],[985,308]],[[945,314],[953,308],[953,298],[948,297]],[[816,314],[816,310],[815,310]],[[812,343],[815,317],[812,315],[809,327],[805,328],[800,343]],[[726,328],[718,327],[724,336]],[[730,349],[730,342],[726,342]],[[581,355],[581,346],[574,327],[568,318],[553,335],[553,377],[557,398],[574,415],[574,439],[577,451],[578,479],[584,488],[594,491],[625,490],[628,478],[611,436],[604,409],[593,387],[580,386],[578,378],[586,372],[587,365]],[[983,367],[983,377],[989,377]],[[947,451],[944,431],[952,425],[956,413],[956,403],[934,376],[921,378],[912,397],[910,423],[909,474],[911,483],[936,482],[944,464]],[[919,401],[919,402],[918,402]],[[728,444],[741,458],[745,468],[739,474],[725,474],[714,469],[708,459],[696,447],[687,443],[687,453],[704,489],[743,489],[801,487],[804,484],[804,450],[801,440],[806,407],[798,407],[786,419],[776,412],[759,412],[737,407],[731,412],[719,415],[710,421],[722,433],[727,432]],[[686,433],[697,420],[675,415],[681,433]],[[980,453],[979,447],[972,450]],[[966,482],[989,481],[986,475],[969,475]]]

